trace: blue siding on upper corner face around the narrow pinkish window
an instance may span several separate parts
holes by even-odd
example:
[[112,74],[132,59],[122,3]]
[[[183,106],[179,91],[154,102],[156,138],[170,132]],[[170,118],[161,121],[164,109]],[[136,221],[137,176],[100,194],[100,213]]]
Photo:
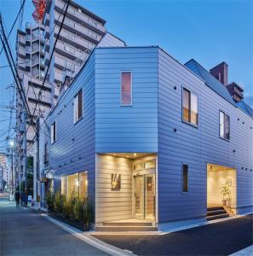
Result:
[[[157,152],[158,48],[95,49],[95,148]],[[121,107],[120,72],[132,72],[132,107]]]

